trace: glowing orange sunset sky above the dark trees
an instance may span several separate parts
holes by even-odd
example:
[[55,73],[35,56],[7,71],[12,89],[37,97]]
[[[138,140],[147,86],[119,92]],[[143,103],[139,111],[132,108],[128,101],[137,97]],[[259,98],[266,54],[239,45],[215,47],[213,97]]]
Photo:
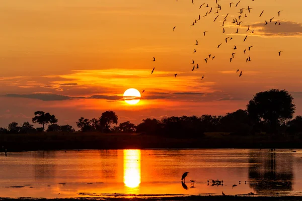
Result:
[[[194,5],[189,0],[1,1],[0,126],[31,121],[36,110],[73,126],[82,116],[100,117],[106,110],[114,110],[120,123],[223,115],[244,109],[256,92],[270,88],[290,91],[296,115],[301,115],[301,3],[241,0],[230,8],[230,2],[237,3],[218,1],[222,9],[213,22],[218,15],[214,0],[194,0]],[[209,7],[199,10],[202,3]],[[248,6],[250,14],[246,9],[238,13]],[[211,14],[190,26],[211,7]],[[231,22],[239,15],[243,22],[234,26]],[[272,23],[264,25],[272,17]],[[248,25],[254,33],[246,32]],[[233,40],[225,43],[226,37]],[[245,55],[243,50],[252,45]],[[215,59],[206,64],[209,54]],[[248,56],[251,61],[246,62]],[[192,59],[199,64],[193,72]],[[237,69],[243,72],[240,78]],[[120,99],[127,88],[145,90],[138,105]],[[57,100],[56,94],[65,100]]]

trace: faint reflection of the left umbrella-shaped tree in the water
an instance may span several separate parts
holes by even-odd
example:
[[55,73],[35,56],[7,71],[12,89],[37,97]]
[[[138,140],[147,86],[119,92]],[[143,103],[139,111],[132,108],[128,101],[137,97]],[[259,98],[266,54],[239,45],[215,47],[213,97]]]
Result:
[[36,180],[53,178],[55,174],[53,151],[34,152],[34,173]]

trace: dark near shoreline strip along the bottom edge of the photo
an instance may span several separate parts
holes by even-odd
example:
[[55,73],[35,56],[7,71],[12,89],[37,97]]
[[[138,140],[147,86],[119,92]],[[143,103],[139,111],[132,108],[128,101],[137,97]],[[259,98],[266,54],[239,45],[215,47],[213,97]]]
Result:
[[68,200],[81,200],[81,201],[91,201],[91,200],[108,200],[108,201],[197,201],[197,200],[206,200],[206,201],[226,201],[226,200],[234,200],[234,201],[298,201],[302,200],[301,196],[278,196],[278,197],[268,197],[268,196],[204,196],[204,195],[192,195],[192,196],[179,196],[179,197],[86,197],[86,198],[57,198],[57,199],[46,199],[46,198],[30,198],[30,197],[22,197],[22,198],[1,198],[3,201],[27,201],[27,200],[37,200],[37,201],[68,201]]

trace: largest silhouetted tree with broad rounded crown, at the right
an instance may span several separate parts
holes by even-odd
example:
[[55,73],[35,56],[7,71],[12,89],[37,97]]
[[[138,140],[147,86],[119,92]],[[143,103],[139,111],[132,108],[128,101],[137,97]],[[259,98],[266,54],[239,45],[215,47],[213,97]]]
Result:
[[271,131],[275,132],[277,125],[292,118],[295,106],[288,91],[270,89],[254,95],[247,105],[247,111],[250,118],[269,123]]

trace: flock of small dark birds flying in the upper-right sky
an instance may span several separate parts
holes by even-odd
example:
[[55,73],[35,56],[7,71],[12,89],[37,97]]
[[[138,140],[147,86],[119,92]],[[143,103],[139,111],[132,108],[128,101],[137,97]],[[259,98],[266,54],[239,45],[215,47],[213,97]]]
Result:
[[[233,13],[232,13],[232,14],[231,14],[231,13],[229,14],[229,13],[227,13],[226,15],[222,15],[222,14],[220,14],[220,13],[221,13],[221,10],[222,10],[222,7],[221,7],[221,5],[219,5],[219,3],[218,3],[218,1],[220,1],[220,0],[213,0],[213,1],[216,2],[216,3],[215,3],[215,7],[213,7],[213,6],[210,7],[209,4],[207,4],[207,3],[203,3],[203,4],[201,4],[200,6],[199,6],[199,5],[198,5],[198,6],[199,6],[199,9],[205,8],[205,9],[207,10],[206,13],[205,13],[205,15],[203,15],[202,18],[205,18],[205,17],[209,16],[210,14],[217,14],[217,16],[215,16],[215,18],[214,18],[214,20],[213,20],[214,23],[216,22],[216,20],[217,20],[218,18],[221,18],[222,24],[220,25],[220,27],[221,27],[221,32],[222,32],[222,34],[232,34],[232,33],[227,33],[227,32],[225,31],[225,29],[224,29],[224,24],[225,24],[225,22],[228,22],[228,19],[230,19],[230,18],[232,17],[233,19],[232,19],[231,21],[229,21],[229,22],[231,23],[231,25],[233,24],[233,26],[234,26],[235,28],[238,26],[237,29],[236,29],[237,31],[233,33],[233,34],[236,35],[236,34],[238,34],[238,33],[240,32],[239,27],[242,27],[242,23],[244,23],[242,20],[243,20],[244,18],[247,18],[248,15],[250,15],[250,14],[253,13],[253,12],[252,12],[253,8],[251,8],[250,6],[247,6],[247,8],[241,8],[240,5],[242,4],[242,1],[243,1],[243,0],[239,0],[239,1],[236,2],[236,3],[234,3],[234,2],[230,2],[230,3],[229,3],[231,9],[233,9],[234,11],[235,11],[236,9],[238,9],[238,10],[237,10],[238,13],[236,13],[236,14],[233,14]],[[232,0],[230,0],[230,1],[232,1]],[[247,0],[247,1],[248,1],[248,0]],[[249,0],[249,1],[254,2],[255,0]],[[178,2],[178,0],[176,0],[176,2]],[[195,4],[194,4],[194,0],[191,0],[191,2],[192,2],[193,5],[195,5]],[[198,7],[197,7],[197,8],[198,8]],[[215,13],[214,13],[214,11],[213,11],[214,9],[216,10]],[[276,11],[276,14],[278,14],[278,17],[280,17],[280,13],[281,13],[281,12],[282,12],[282,11]],[[263,13],[264,13],[264,10],[260,13],[259,18],[262,17]],[[256,13],[254,13],[254,14],[256,15]],[[222,17],[221,17],[221,16],[222,16]],[[224,17],[223,17],[223,16],[224,16]],[[198,23],[198,21],[199,21],[200,19],[201,19],[201,15],[199,15],[197,19],[193,20],[193,23],[191,24],[191,26],[195,26],[196,23]],[[264,25],[268,25],[268,23],[272,23],[272,22],[273,22],[273,19],[275,19],[275,17],[270,18],[270,19],[269,19],[269,22],[266,21],[266,20],[263,20],[263,21],[264,21]],[[274,24],[275,24],[275,26],[276,26],[276,25],[279,26],[279,25],[281,25],[281,22],[276,21]],[[244,35],[246,35],[246,36],[243,38],[243,42],[246,42],[246,41],[248,40],[249,34],[253,34],[253,33],[254,33],[254,30],[252,29],[252,27],[251,27],[250,25],[246,25],[246,26],[244,26],[244,27],[247,27],[247,29],[246,29],[245,31],[243,31],[243,33],[245,33]],[[252,29],[252,30],[251,30],[251,29]],[[173,27],[173,32],[176,31],[176,30],[177,30],[177,29],[176,29],[176,26],[174,26],[174,27]],[[204,37],[206,37],[206,33],[207,33],[207,32],[208,32],[208,31],[204,31],[204,32],[203,32],[203,36],[204,36]],[[242,34],[242,33],[241,33],[241,34]],[[228,43],[228,41],[233,40],[233,37],[235,37],[235,35],[232,36],[232,37],[231,37],[231,36],[226,37],[226,38],[224,39],[224,40],[225,40],[225,43]],[[199,44],[198,44],[198,40],[196,40],[195,45],[196,45],[196,46],[199,45]],[[217,48],[219,48],[221,45],[222,45],[222,43],[218,44],[218,45],[217,45]],[[251,46],[246,46],[246,47],[247,47],[246,49],[242,50],[242,54],[246,54],[247,51],[251,51],[253,45],[251,45]],[[233,59],[235,58],[234,55],[235,55],[236,53],[239,54],[238,52],[235,52],[235,50],[238,49],[236,45],[234,45],[234,47],[233,47],[232,49],[233,49],[234,52],[231,53],[232,57],[230,58],[230,62],[233,61]],[[193,50],[193,54],[196,53],[196,52],[197,52],[197,49],[194,49],[194,50]],[[278,52],[279,56],[281,56],[281,52],[283,52],[283,51],[279,51],[279,52]],[[209,59],[213,60],[214,58],[215,58],[215,56],[212,56],[212,54],[209,54],[209,55],[208,55],[208,58],[204,58],[204,61],[205,61],[205,63],[207,64]],[[155,57],[153,57],[153,61],[156,61]],[[250,61],[251,61],[251,57],[250,57],[250,56],[247,56],[245,62],[250,62]],[[195,63],[194,59],[192,59],[191,64],[193,64],[193,67],[192,67],[191,71],[194,71],[195,69],[199,69],[199,64],[198,64],[198,63]],[[196,64],[196,68],[195,68],[195,64]],[[155,71],[155,67],[153,68],[151,74],[152,74],[154,71]],[[237,70],[236,70],[236,73],[238,73],[239,71],[240,71],[239,77],[241,77],[242,74],[243,74],[243,73],[242,73],[242,70],[237,69]],[[174,77],[175,77],[175,78],[176,78],[176,76],[177,76],[177,73],[174,74]],[[204,78],[204,75],[202,75],[201,79],[203,79],[203,78]]]

